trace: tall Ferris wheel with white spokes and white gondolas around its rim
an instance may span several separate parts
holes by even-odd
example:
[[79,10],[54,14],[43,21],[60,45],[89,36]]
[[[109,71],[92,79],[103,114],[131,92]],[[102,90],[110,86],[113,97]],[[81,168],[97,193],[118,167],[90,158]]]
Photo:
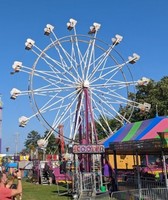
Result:
[[[110,44],[97,38],[101,27],[93,23],[88,35],[78,34],[77,21],[67,23],[68,36],[57,37],[54,26],[47,24],[44,35],[50,40],[41,49],[32,39],[27,39],[25,49],[35,54],[33,66],[25,66],[20,61],[13,64],[13,73],[27,73],[28,89],[11,90],[11,98],[28,95],[33,115],[23,115],[19,125],[26,126],[29,120],[37,117],[51,130],[40,145],[45,145],[60,124],[68,126],[66,135],[74,140],[79,132],[92,133],[97,141],[95,122],[108,134],[114,130],[109,119],[121,124],[129,122],[135,108],[148,111],[150,104],[140,104],[129,99],[135,85],[146,85],[149,79],[133,80],[129,65],[136,63],[140,56],[133,53],[125,60],[116,50],[123,37],[116,34]],[[119,108],[129,106],[131,112],[120,114]]]

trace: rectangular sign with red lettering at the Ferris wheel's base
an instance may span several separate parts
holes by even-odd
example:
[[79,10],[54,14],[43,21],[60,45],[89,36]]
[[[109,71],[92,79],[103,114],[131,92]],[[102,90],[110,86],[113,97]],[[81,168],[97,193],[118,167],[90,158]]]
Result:
[[78,145],[75,144],[73,145],[72,148],[72,152],[73,153],[104,153],[105,152],[105,148],[103,145],[94,145],[94,144],[90,144],[90,145]]

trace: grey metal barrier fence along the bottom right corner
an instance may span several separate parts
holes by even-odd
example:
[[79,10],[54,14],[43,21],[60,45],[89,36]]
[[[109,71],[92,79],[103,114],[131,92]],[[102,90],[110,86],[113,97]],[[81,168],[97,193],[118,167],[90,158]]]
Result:
[[146,188],[113,192],[112,200],[167,200],[167,188]]

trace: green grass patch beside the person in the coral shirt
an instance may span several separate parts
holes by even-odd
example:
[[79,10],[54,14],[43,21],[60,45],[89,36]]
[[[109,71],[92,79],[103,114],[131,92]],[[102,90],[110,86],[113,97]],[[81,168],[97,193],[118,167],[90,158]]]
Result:
[[68,196],[59,196],[57,185],[40,185],[23,181],[23,200],[70,200]]

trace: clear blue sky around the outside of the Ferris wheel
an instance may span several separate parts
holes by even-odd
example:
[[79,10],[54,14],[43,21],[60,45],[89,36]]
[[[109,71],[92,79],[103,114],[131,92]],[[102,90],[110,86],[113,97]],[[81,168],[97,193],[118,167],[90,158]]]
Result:
[[[2,153],[15,153],[24,148],[27,134],[32,130],[44,133],[39,121],[33,118],[25,128],[18,126],[21,115],[32,113],[28,97],[10,99],[16,86],[27,88],[28,76],[11,75],[13,62],[18,60],[32,65],[35,59],[25,51],[24,43],[32,38],[44,48],[43,29],[55,26],[57,35],[68,35],[66,23],[78,21],[77,31],[87,34],[89,27],[98,22],[98,38],[110,43],[115,34],[123,36],[119,48],[123,57],[136,52],[140,60],[132,67],[135,80],[148,77],[159,81],[167,76],[168,54],[168,1],[167,0],[0,0],[0,93],[2,109]],[[26,78],[27,77],[27,78]]]

